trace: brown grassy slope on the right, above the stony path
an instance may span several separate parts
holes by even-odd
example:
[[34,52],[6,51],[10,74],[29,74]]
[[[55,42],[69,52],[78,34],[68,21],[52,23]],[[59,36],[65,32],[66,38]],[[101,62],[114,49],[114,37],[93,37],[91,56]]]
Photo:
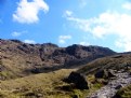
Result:
[[130,68],[131,68],[131,55],[123,54],[123,55],[115,55],[115,56],[99,58],[94,61],[89,62],[86,67],[79,69],[78,72],[90,74],[90,73],[95,73],[97,70],[102,69],[130,70]]

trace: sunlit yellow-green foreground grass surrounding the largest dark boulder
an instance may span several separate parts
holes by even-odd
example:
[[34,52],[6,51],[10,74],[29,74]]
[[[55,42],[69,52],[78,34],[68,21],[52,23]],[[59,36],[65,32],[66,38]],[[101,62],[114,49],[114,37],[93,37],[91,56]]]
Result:
[[[95,79],[93,75],[87,76],[91,82],[90,89],[80,90],[71,84],[63,82],[71,71],[76,69],[61,69],[49,73],[39,73],[15,80],[0,81],[0,96],[2,98],[84,98],[92,92],[97,90],[103,85],[92,84]],[[66,87],[67,90],[63,89]]]

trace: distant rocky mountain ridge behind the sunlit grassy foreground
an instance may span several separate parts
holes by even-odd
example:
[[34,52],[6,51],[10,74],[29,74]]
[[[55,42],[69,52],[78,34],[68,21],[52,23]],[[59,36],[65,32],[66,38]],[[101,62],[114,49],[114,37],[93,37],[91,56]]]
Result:
[[114,51],[102,46],[74,44],[58,47],[52,43],[28,44],[18,40],[0,39],[0,75],[5,80],[49,72],[63,67],[83,65],[114,54],[116,54]]

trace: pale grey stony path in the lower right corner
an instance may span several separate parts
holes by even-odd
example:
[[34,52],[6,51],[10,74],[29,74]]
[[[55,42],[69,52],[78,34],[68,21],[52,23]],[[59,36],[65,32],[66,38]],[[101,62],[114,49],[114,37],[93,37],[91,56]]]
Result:
[[122,73],[119,71],[116,73],[115,80],[110,80],[106,86],[102,87],[100,90],[87,98],[113,98],[119,88],[129,84],[131,84],[131,75],[128,72]]

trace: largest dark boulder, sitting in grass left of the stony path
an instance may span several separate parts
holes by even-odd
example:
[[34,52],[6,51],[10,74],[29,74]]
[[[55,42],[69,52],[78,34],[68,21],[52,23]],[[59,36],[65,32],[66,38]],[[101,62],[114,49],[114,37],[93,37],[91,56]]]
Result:
[[68,83],[74,83],[75,86],[79,89],[89,89],[88,81],[86,79],[86,75],[78,73],[78,72],[71,72],[69,76],[67,78]]

